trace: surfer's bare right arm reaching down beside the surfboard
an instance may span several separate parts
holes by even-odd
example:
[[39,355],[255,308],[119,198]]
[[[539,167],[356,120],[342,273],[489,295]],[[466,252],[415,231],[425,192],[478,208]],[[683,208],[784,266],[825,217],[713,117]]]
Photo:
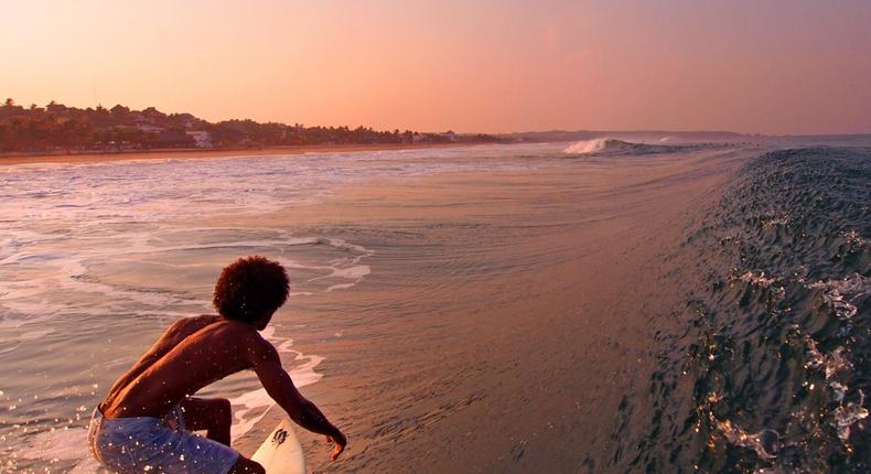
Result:
[[255,349],[251,352],[251,365],[260,384],[297,424],[309,431],[325,434],[327,440],[335,442],[336,445],[332,453],[332,457],[335,460],[345,450],[345,444],[347,444],[345,435],[324,417],[314,403],[297,390],[290,375],[281,367],[278,351],[259,336],[257,338],[260,341],[255,344]]

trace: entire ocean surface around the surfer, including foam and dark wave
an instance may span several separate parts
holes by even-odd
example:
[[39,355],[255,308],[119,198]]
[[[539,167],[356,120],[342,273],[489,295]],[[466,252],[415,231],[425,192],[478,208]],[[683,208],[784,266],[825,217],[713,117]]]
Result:
[[[2,166],[0,470],[94,472],[95,403],[260,254],[292,280],[264,335],[356,443],[318,471],[867,472],[868,147]],[[243,452],[278,416],[250,374],[202,395]]]

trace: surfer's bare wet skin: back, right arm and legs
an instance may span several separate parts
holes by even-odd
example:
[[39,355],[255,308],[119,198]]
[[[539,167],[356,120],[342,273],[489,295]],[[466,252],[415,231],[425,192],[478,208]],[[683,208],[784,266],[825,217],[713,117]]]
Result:
[[[99,408],[106,418],[162,418],[181,403],[193,430],[229,444],[230,411],[226,400],[191,398],[203,387],[230,374],[251,369],[269,396],[291,420],[335,442],[332,459],[345,449],[345,435],[305,399],[281,367],[278,351],[260,336],[271,314],[254,324],[218,315],[174,322],[133,367],[112,385]],[[230,473],[262,472],[239,456]]]

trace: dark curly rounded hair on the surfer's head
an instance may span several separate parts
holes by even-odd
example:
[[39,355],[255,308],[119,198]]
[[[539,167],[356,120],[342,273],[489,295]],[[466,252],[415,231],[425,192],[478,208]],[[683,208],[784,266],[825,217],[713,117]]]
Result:
[[246,257],[222,270],[212,304],[222,316],[251,324],[284,304],[289,290],[281,265],[260,256]]

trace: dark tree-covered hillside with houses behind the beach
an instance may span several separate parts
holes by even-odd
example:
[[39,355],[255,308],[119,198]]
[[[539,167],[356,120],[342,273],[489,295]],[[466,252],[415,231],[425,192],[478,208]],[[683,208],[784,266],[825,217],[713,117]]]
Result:
[[[421,133],[357,127],[305,127],[260,123],[250,119],[215,123],[191,114],[164,114],[154,107],[131,110],[76,108],[54,100],[23,107],[11,98],[0,106],[0,152],[121,151],[194,148],[193,132],[207,132],[214,148],[260,148],[303,144],[502,141],[486,134]],[[200,133],[202,134],[202,133]],[[203,146],[203,143],[198,143]]]

